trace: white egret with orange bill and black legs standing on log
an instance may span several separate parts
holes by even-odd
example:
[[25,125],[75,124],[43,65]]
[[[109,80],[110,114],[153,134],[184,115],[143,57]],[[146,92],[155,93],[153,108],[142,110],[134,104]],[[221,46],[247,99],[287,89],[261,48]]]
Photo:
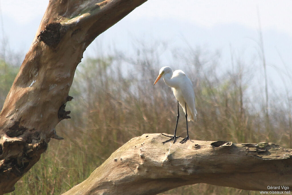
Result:
[[[159,75],[153,85],[155,85],[161,77],[163,77],[164,82],[169,87],[171,87],[171,90],[173,91],[173,94],[178,104],[180,104],[180,106],[183,108],[183,111],[185,112],[186,122],[190,120],[197,121],[197,110],[196,110],[196,105],[195,105],[194,88],[193,88],[193,84],[191,80],[187,77],[187,75],[185,75],[185,73],[182,70],[175,70],[173,72],[170,67],[164,66],[159,70]],[[168,139],[162,143],[171,141],[172,139],[173,139],[173,143],[175,143],[175,139],[180,137],[180,136],[176,136],[176,128],[178,127],[179,117],[180,117],[180,113],[178,109],[174,135],[171,137],[171,136],[163,134],[164,136],[171,137],[171,139]],[[182,141],[180,141],[180,143],[183,144],[188,139],[190,140],[189,131],[187,128],[187,137],[184,138]]]

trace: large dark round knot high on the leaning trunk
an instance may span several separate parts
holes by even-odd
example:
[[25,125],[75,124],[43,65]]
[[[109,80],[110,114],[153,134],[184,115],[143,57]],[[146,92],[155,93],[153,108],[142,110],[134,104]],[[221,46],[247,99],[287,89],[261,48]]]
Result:
[[67,28],[60,23],[50,23],[46,25],[45,30],[40,32],[37,39],[44,42],[47,46],[55,48],[66,32]]

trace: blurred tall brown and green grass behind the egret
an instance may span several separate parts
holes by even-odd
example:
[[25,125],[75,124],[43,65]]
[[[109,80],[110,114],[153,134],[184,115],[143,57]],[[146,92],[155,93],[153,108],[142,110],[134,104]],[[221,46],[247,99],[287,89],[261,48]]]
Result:
[[[254,82],[254,62],[247,63],[233,56],[231,64],[223,66],[219,52],[189,48],[173,51],[173,61],[162,64],[164,44],[140,48],[131,57],[116,53],[83,60],[69,93],[74,99],[66,107],[71,110],[72,119],[63,120],[56,128],[65,140],[51,140],[46,153],[17,182],[11,194],[61,194],[85,180],[131,138],[143,133],[173,134],[176,100],[171,88],[162,80],[153,87],[164,65],[184,70],[193,82],[198,120],[189,123],[191,139],[234,143],[269,141],[292,147],[291,98],[288,94],[269,94],[270,120],[266,120],[265,99],[260,95],[263,91],[254,88],[259,85]],[[15,68],[0,61],[0,74],[3,105]],[[182,119],[178,134],[186,134]],[[258,193],[195,184],[163,194]]]

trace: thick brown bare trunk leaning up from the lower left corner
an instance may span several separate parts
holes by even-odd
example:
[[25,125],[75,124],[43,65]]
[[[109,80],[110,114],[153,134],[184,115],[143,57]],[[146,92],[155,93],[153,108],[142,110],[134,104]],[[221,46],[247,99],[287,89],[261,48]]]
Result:
[[52,0],[0,113],[0,194],[46,151],[65,111],[74,72],[99,34],[147,0]]

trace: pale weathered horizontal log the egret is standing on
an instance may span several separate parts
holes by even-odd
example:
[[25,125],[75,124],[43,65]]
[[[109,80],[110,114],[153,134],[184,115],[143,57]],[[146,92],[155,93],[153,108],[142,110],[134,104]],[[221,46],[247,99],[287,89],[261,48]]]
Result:
[[165,139],[161,134],[131,139],[63,195],[157,194],[196,183],[245,190],[292,189],[292,149],[228,141],[162,144]]

